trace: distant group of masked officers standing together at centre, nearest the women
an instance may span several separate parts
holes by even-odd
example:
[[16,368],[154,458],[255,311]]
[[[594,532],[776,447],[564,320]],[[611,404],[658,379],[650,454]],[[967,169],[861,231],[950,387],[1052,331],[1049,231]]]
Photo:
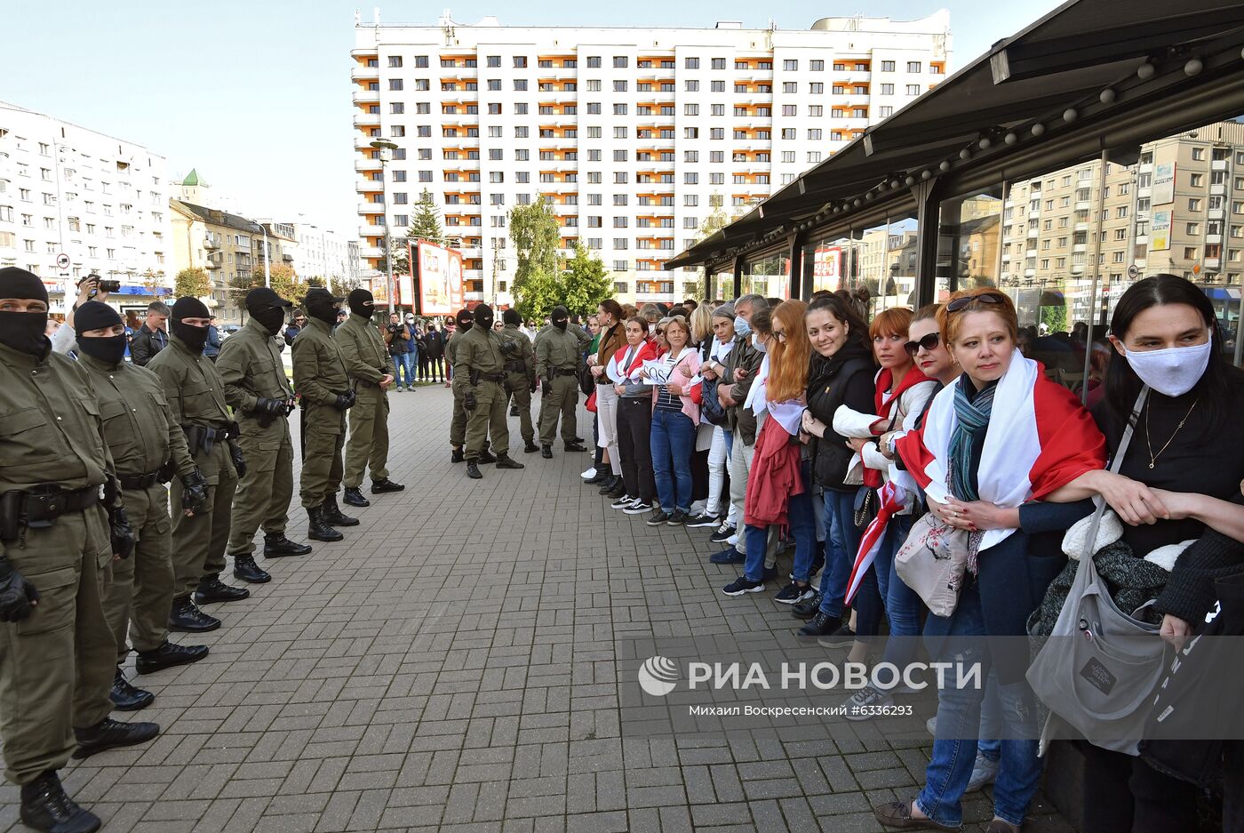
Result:
[[[525,453],[539,451],[545,459],[552,458],[559,417],[566,451],[587,451],[583,438],[575,436],[575,422],[578,369],[592,336],[570,324],[565,306],[554,308],[549,326],[536,334],[535,344],[519,329],[522,318],[516,310],[505,310],[501,320],[505,326],[493,330],[493,308],[488,304],[459,310],[458,330],[445,346],[454,371],[449,459],[454,463],[466,461],[466,477],[471,479],[484,477],[480,463],[524,468],[509,453],[505,410],[511,397],[519,412]],[[539,446],[531,423],[531,395],[537,382],[541,388]],[[490,438],[495,456],[489,451]]]

